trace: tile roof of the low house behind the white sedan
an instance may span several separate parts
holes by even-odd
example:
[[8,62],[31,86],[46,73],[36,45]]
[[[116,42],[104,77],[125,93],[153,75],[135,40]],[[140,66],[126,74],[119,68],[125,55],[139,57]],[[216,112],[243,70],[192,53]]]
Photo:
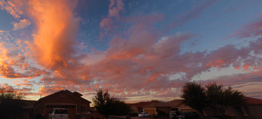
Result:
[[182,100],[172,100],[169,102],[154,102],[143,107],[177,107],[182,103]]

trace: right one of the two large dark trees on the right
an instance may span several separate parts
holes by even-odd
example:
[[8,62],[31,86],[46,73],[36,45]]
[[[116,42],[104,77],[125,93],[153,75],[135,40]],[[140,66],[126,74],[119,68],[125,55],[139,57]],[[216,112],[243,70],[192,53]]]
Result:
[[223,118],[226,118],[225,111],[227,107],[243,107],[247,104],[243,98],[244,93],[233,90],[231,86],[224,88],[223,84],[217,85],[216,82],[209,82],[205,87],[209,104],[215,105],[221,111]]

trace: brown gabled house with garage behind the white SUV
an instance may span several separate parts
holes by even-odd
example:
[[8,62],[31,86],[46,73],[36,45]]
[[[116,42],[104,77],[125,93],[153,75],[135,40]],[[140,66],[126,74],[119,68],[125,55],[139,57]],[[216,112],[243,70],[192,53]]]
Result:
[[41,114],[44,119],[48,118],[48,112],[53,108],[65,108],[68,111],[70,119],[80,119],[81,114],[90,112],[90,101],[81,97],[78,92],[61,90],[51,95],[40,98],[33,104],[34,117]]

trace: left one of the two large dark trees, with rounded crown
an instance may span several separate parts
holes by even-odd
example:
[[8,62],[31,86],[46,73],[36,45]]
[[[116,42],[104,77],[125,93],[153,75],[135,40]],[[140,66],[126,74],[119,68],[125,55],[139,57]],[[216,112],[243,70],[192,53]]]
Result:
[[206,106],[205,88],[202,84],[186,82],[181,88],[182,102],[197,110],[204,117],[204,107]]

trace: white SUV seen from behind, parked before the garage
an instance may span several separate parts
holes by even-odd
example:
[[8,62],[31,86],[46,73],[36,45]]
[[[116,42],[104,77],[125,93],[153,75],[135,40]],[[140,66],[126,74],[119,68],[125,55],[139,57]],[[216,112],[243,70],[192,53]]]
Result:
[[52,109],[50,112],[48,112],[48,119],[69,119],[67,109]]

